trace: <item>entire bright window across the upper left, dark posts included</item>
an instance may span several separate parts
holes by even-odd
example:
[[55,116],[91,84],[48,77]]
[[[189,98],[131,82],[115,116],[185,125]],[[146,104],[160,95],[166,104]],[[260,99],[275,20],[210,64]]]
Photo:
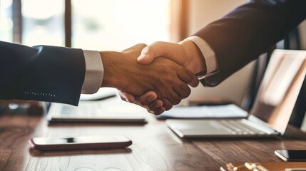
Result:
[[171,41],[174,2],[1,0],[0,40],[108,51]]

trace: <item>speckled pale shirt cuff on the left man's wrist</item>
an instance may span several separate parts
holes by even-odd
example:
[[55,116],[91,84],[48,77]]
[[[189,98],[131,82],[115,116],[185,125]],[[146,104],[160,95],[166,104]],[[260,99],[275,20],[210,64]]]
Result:
[[85,78],[82,86],[82,94],[96,93],[103,81],[103,63],[98,51],[86,51],[83,50],[85,58]]

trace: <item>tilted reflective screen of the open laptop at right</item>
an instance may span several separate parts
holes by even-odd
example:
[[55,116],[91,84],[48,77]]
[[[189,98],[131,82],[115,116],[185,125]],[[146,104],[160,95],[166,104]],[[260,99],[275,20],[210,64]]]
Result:
[[306,74],[306,51],[275,50],[251,114],[285,133]]

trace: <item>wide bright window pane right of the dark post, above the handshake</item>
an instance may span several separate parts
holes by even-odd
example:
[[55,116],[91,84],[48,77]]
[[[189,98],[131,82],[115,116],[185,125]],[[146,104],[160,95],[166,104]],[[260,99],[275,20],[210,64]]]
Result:
[[72,46],[123,50],[169,41],[169,1],[72,0]]

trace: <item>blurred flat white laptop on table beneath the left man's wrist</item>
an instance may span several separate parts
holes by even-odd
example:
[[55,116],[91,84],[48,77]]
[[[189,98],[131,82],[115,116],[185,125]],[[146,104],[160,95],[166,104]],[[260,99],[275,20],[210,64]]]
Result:
[[146,109],[121,100],[117,90],[101,89],[98,94],[83,95],[78,106],[52,103],[49,123],[146,123]]

